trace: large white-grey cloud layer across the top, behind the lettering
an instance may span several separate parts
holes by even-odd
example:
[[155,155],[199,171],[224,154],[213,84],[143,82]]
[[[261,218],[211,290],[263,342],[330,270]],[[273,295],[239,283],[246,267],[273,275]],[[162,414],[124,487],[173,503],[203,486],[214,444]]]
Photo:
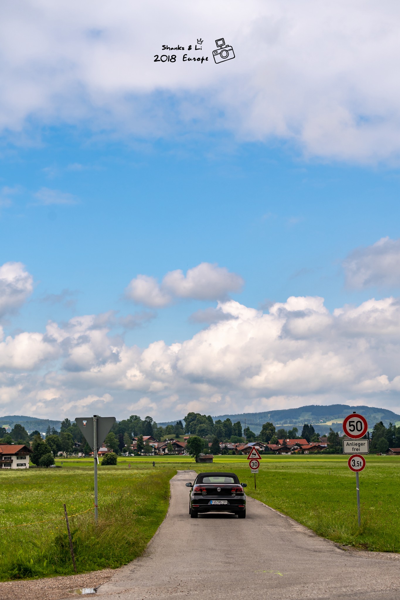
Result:
[[[289,139],[323,157],[399,154],[394,0],[28,0],[24,7],[0,6],[3,130],[64,121],[155,138],[190,124],[246,141]],[[199,31],[199,55],[209,61],[183,62],[178,51],[174,64],[154,62],[162,44],[187,52]],[[221,35],[236,58],[215,64]]]

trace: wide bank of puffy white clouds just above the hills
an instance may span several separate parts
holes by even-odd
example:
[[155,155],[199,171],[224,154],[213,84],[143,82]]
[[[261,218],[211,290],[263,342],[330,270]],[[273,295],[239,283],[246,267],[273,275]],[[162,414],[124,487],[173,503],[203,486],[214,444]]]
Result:
[[144,349],[110,337],[110,320],[95,315],[7,337],[0,401],[56,416],[65,406],[89,410],[109,394],[107,411],[159,420],[185,410],[217,415],[336,402],[398,410],[400,299],[333,313],[318,297],[291,297],[269,313],[233,300],[217,310],[227,318],[192,338]]

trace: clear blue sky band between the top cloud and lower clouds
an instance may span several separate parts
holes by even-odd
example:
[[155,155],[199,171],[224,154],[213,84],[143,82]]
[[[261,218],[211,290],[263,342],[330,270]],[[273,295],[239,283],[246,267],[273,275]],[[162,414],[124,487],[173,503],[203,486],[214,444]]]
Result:
[[[24,263],[35,278],[9,331],[43,328],[76,311],[124,316],[137,310],[124,299],[137,274],[161,279],[200,262],[240,274],[245,286],[233,297],[255,308],[291,295],[323,296],[330,310],[371,297],[370,289],[345,287],[341,263],[356,247],[398,237],[398,171],[321,164],[294,149],[228,137],[224,151],[212,137],[131,148],[61,128],[40,147],[9,147],[1,181],[16,192],[2,209],[0,248],[4,262]],[[42,188],[71,194],[73,203],[40,205]],[[65,299],[47,298],[63,290]],[[373,290],[375,298],[385,292]],[[190,315],[209,304],[161,310],[130,341],[183,341],[199,329]]]

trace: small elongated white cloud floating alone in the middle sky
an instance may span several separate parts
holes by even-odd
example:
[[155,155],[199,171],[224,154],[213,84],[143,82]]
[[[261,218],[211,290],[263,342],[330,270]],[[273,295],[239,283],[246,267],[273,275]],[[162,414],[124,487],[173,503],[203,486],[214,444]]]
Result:
[[227,268],[211,263],[200,263],[188,269],[187,274],[176,269],[168,272],[161,285],[154,277],[137,275],[125,290],[127,298],[149,307],[164,307],[176,298],[221,300],[230,292],[239,292],[243,279]]

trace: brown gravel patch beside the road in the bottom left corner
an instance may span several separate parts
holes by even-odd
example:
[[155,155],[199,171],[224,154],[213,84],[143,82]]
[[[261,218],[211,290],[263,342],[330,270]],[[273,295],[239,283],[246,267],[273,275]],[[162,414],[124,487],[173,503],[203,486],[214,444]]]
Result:
[[82,587],[97,588],[102,583],[106,583],[114,573],[114,569],[103,569],[103,571],[91,571],[83,575],[1,581],[0,600],[61,600],[70,596],[74,598],[77,595],[70,593],[72,590]]

